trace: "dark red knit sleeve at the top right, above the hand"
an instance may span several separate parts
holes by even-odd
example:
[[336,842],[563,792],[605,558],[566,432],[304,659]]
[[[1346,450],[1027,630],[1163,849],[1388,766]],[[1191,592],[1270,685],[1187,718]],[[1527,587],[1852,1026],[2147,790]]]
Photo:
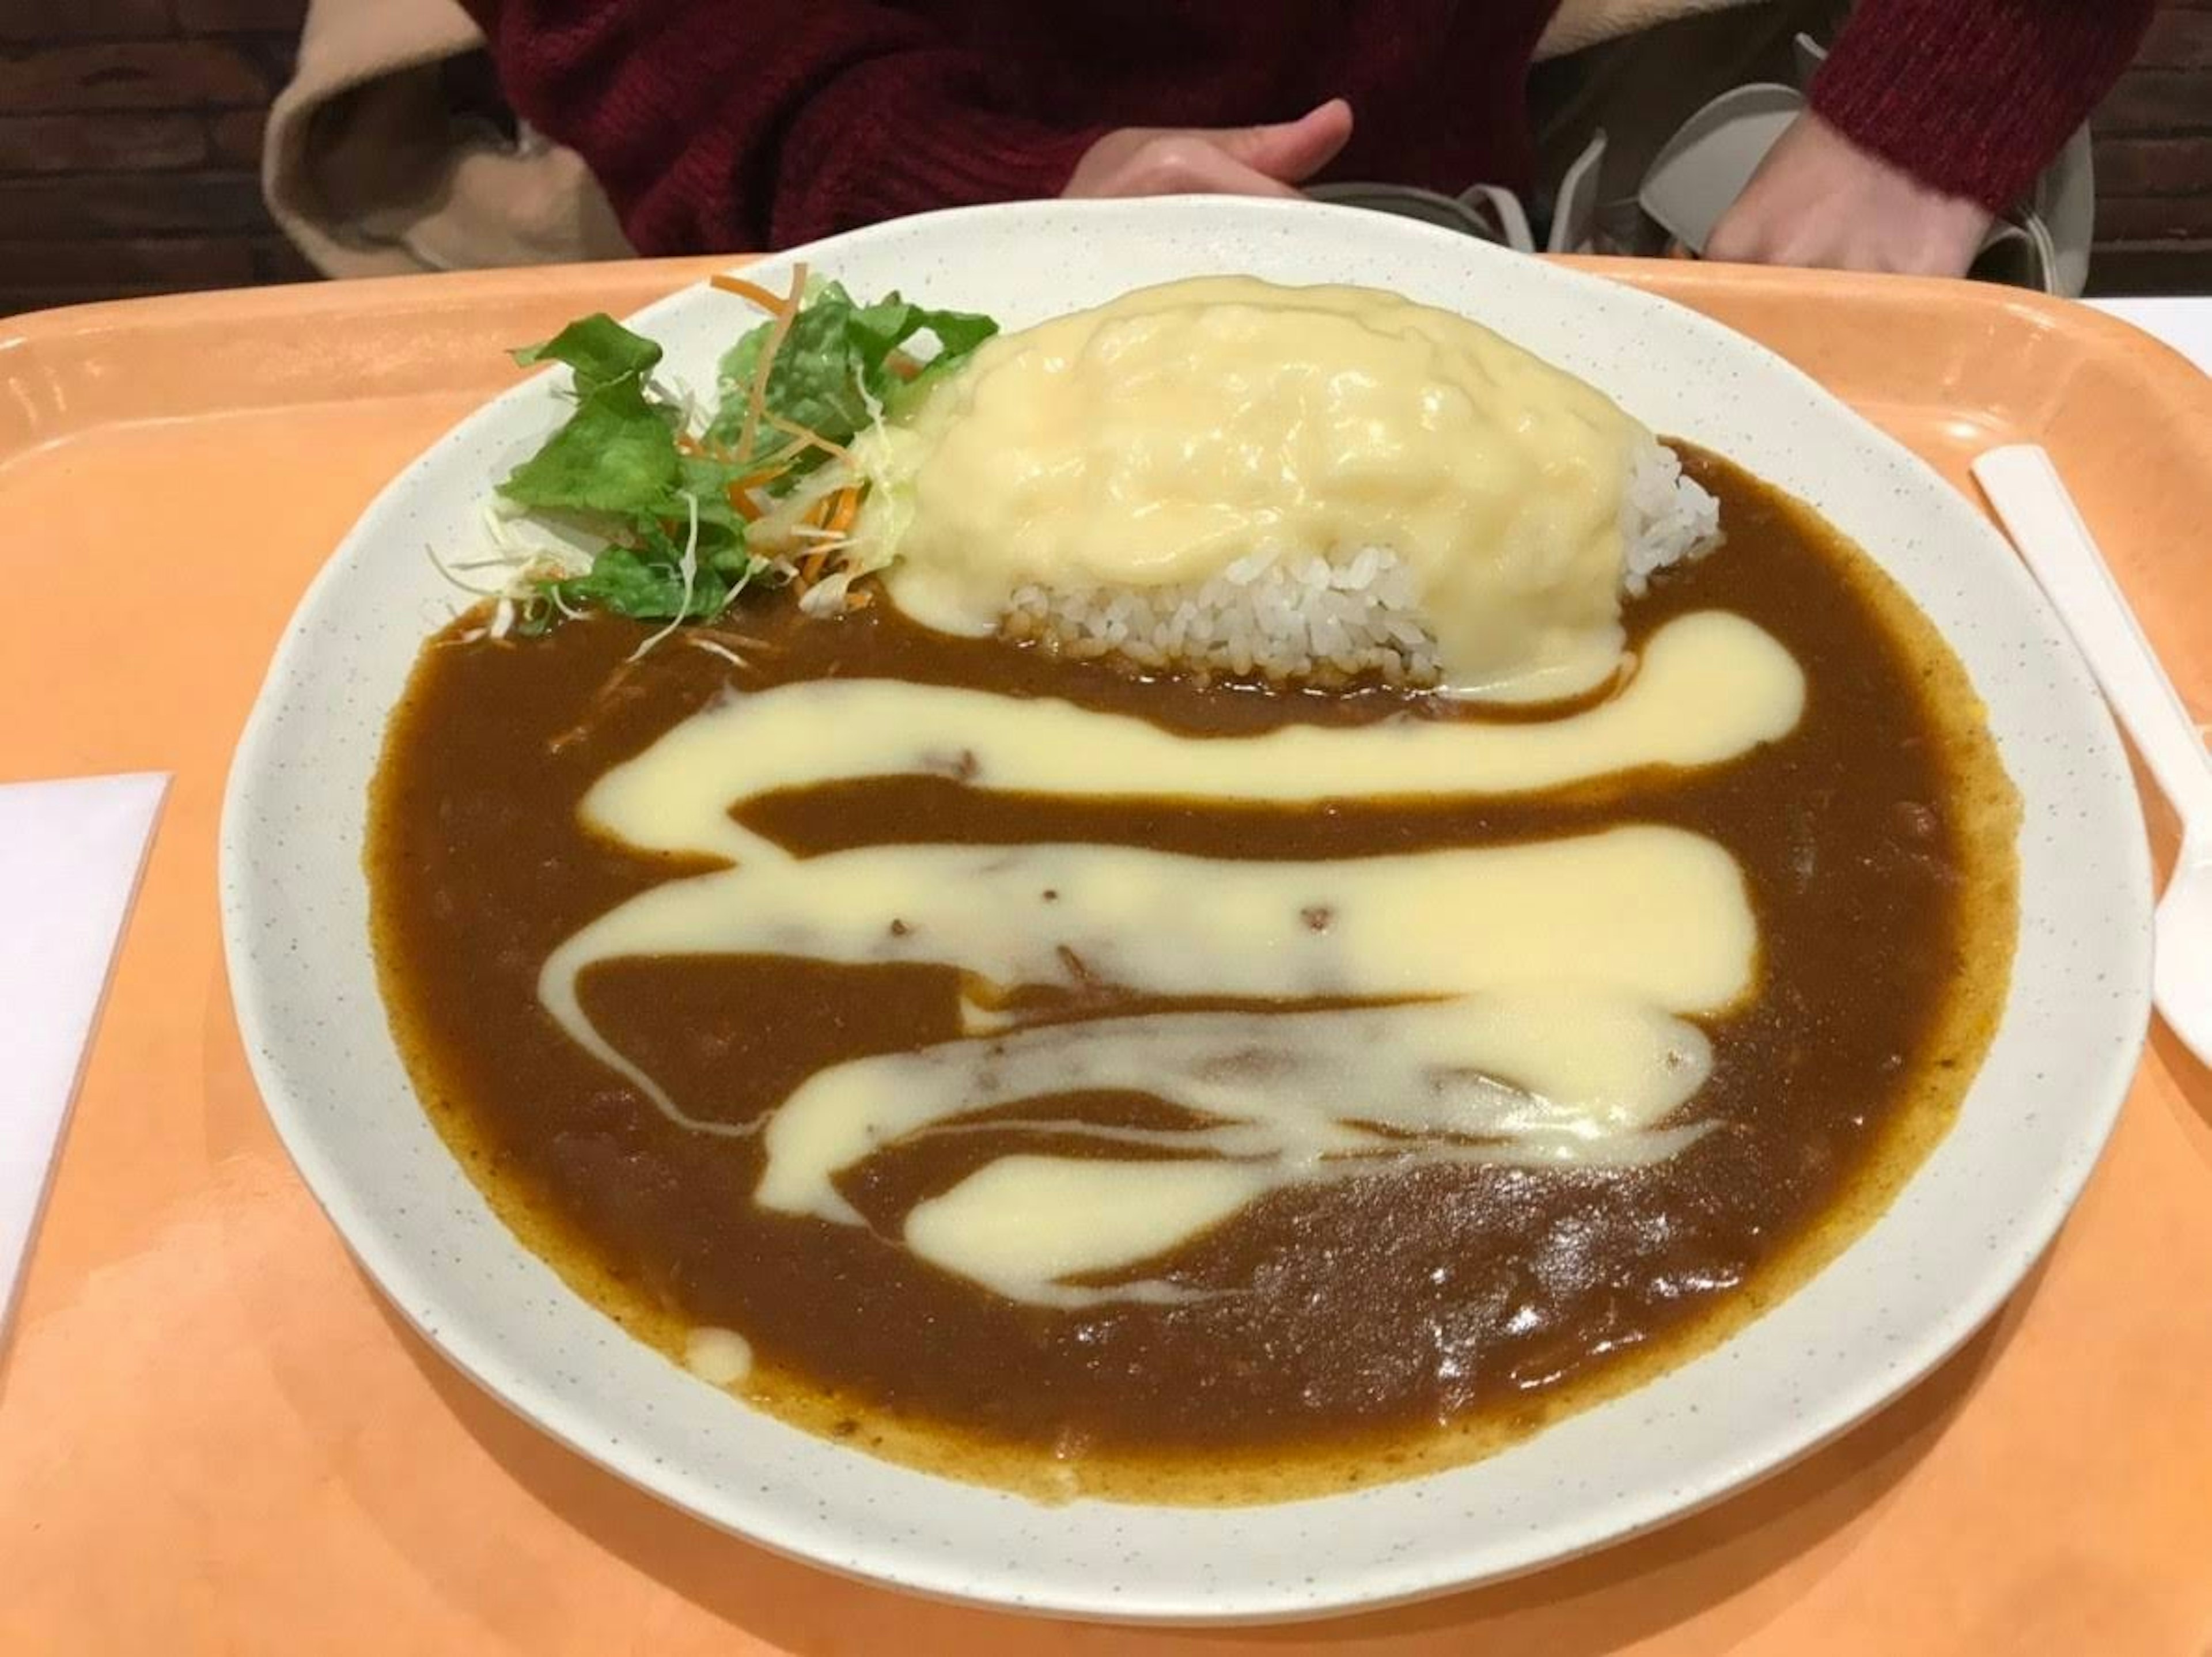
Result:
[[2119,80],[2154,0],[1860,0],[1812,106],[1860,148],[2002,212]]

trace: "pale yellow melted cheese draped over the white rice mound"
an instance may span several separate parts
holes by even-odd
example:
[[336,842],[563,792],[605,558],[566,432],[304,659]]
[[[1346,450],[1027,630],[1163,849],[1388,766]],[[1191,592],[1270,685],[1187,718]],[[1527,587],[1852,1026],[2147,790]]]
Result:
[[1208,277],[989,341],[858,447],[858,542],[894,602],[991,633],[1022,586],[1203,582],[1234,560],[1389,546],[1447,684],[1604,684],[1621,493],[1650,434],[1451,312]]

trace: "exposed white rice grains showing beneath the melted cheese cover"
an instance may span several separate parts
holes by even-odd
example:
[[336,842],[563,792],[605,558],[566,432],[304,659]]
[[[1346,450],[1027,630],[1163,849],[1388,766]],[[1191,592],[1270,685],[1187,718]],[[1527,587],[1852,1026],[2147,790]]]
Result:
[[[1621,593],[1721,544],[1721,504],[1681,473],[1657,438],[1621,496]],[[1121,657],[1137,668],[1261,677],[1276,684],[1438,684],[1436,635],[1411,571],[1387,546],[1338,557],[1252,553],[1206,582],[1046,591],[1020,586],[1002,633],[1068,657]]]

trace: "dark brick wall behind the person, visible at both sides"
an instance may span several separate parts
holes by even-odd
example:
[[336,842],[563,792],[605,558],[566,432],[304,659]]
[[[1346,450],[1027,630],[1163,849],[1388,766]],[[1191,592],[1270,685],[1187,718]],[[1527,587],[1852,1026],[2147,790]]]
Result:
[[[0,314],[312,277],[261,122],[305,0],[0,0]],[[2097,117],[2104,292],[2212,292],[2212,0],[2163,0]]]

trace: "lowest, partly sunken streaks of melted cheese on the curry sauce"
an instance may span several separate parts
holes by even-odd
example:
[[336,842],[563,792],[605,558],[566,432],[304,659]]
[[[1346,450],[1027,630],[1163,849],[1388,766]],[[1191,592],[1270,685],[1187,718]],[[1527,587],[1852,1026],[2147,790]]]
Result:
[[[768,1124],[759,1201],[860,1223],[836,1175],[958,1117],[1071,1091],[1141,1091],[1181,1128],[993,1117],[1144,1161],[1000,1157],[916,1206],[905,1243],[1033,1305],[1177,1299],[1119,1274],[1296,1184],[1451,1161],[1648,1164],[1703,1137],[1661,1128],[1712,1069],[1694,1024],[1588,989],[1301,1013],[1157,1013],[1048,1024],[838,1064]],[[1166,1157],[1175,1157],[1172,1161]]]

